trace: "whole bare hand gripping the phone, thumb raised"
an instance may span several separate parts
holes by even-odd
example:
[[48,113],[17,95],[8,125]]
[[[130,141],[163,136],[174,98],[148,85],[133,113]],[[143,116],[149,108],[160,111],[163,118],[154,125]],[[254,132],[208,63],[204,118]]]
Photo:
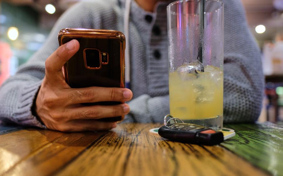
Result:
[[60,46],[45,62],[45,77],[36,98],[34,111],[44,125],[59,131],[109,130],[116,122],[96,121],[117,117],[130,111],[128,104],[83,106],[81,103],[101,101],[124,102],[132,99],[125,88],[71,88],[65,81],[62,67],[77,51],[79,42],[72,40]]

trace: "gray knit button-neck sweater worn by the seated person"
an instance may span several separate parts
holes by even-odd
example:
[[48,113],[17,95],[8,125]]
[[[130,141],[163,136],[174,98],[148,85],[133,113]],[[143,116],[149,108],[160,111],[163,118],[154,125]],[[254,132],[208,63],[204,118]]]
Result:
[[[223,0],[224,121],[256,121],[263,96],[261,56],[248,30],[240,0]],[[126,122],[161,122],[169,113],[167,19],[168,2],[153,13],[132,2],[129,23],[133,99]],[[123,30],[124,0],[81,2],[55,24],[44,46],[0,89],[0,120],[44,127],[32,114],[35,95],[44,78],[45,59],[58,48],[63,28]],[[152,18],[151,18],[152,17]]]

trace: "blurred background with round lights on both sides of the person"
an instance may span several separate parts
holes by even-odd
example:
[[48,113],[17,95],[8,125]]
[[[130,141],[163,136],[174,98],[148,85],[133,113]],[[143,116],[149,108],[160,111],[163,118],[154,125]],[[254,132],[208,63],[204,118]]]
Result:
[[[37,51],[58,17],[80,0],[0,0],[0,85]],[[283,120],[283,0],[242,0],[266,77],[259,121]]]

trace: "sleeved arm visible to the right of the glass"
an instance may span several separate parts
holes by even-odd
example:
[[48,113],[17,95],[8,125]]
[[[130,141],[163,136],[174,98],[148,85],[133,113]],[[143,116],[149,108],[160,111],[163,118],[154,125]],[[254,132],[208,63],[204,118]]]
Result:
[[259,48],[239,0],[224,0],[224,122],[256,121],[264,77]]

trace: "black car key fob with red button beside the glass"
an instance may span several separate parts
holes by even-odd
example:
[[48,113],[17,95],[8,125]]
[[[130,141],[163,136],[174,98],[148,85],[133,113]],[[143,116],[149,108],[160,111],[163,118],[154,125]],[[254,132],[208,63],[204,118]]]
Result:
[[158,134],[172,141],[215,145],[223,142],[223,133],[191,123],[173,123],[160,127]]

